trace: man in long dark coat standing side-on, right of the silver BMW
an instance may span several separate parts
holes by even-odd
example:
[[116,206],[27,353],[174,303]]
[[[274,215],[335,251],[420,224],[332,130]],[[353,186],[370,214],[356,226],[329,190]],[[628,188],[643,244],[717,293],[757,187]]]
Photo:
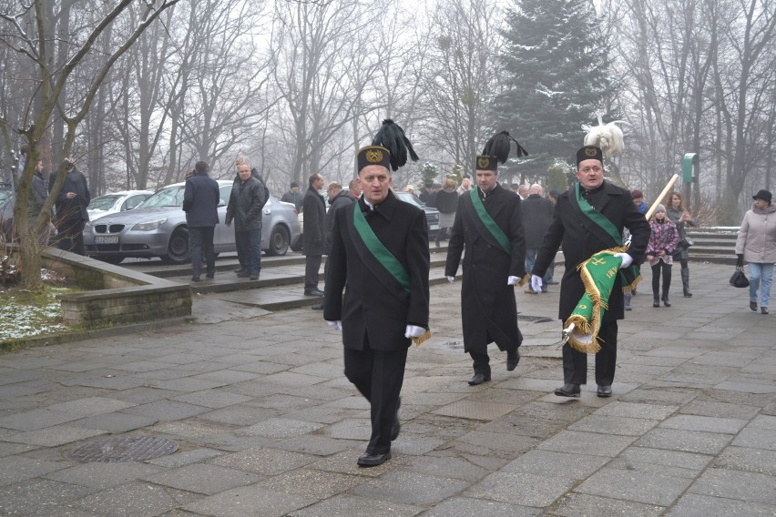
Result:
[[323,254],[326,253],[324,242],[325,230],[323,222],[326,218],[326,202],[318,193],[323,188],[325,180],[320,174],[313,174],[309,178],[310,186],[304,193],[301,211],[304,213],[304,295],[323,296],[323,291],[318,289],[318,272],[321,269]]

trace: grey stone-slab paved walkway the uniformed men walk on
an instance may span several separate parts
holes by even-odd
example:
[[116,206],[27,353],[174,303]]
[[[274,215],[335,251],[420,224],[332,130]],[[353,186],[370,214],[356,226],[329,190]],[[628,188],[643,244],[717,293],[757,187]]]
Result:
[[[198,296],[197,324],[0,355],[0,514],[776,515],[776,315],[748,309],[729,266],[691,272],[670,309],[647,272],[611,399],[552,394],[556,292],[517,290],[520,365],[495,351],[493,381],[468,386],[460,283],[435,286],[434,339],[410,350],[402,434],[374,469],[355,466],[367,406],[318,311]],[[111,435],[179,450],[67,457]]]

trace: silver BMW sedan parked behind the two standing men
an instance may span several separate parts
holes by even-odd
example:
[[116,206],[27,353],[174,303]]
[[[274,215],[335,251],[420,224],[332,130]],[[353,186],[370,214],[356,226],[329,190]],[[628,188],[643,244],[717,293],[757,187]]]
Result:
[[[234,228],[224,224],[232,182],[219,180],[219,223],[213,243],[216,253],[235,251]],[[185,183],[160,188],[153,196],[126,212],[110,214],[87,223],[84,247],[90,257],[118,264],[124,258],[160,257],[168,264],[189,261],[189,228],[183,211]],[[285,255],[300,235],[296,210],[291,203],[270,197],[262,214],[261,248],[267,255]]]

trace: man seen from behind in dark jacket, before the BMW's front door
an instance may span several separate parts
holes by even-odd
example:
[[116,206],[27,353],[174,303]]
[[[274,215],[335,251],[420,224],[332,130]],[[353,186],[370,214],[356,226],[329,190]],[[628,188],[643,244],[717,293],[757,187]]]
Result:
[[189,226],[189,252],[193,273],[191,281],[199,282],[202,269],[202,253],[205,254],[206,276],[216,276],[216,253],[213,249],[213,233],[219,224],[219,184],[208,176],[207,162],[199,161],[186,180],[183,191],[183,211]]

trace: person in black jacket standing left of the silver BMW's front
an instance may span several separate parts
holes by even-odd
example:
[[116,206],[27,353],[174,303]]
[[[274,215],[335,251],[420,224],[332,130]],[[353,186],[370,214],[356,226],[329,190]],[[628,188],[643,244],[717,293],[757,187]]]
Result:
[[[75,166],[72,160],[66,160],[67,177],[56,196],[56,230],[59,249],[84,254],[84,225],[89,220],[87,207],[91,201],[87,177]],[[48,179],[51,191],[56,184],[56,173]]]

